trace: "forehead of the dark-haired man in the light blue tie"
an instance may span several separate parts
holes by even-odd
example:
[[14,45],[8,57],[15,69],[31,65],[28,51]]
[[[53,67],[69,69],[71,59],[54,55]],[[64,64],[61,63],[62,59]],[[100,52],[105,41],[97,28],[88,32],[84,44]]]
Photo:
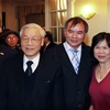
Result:
[[85,31],[85,25],[82,22],[79,22],[77,24],[74,24],[73,22],[69,22],[68,25],[67,25],[67,29],[77,29],[77,30],[80,30],[80,31]]

